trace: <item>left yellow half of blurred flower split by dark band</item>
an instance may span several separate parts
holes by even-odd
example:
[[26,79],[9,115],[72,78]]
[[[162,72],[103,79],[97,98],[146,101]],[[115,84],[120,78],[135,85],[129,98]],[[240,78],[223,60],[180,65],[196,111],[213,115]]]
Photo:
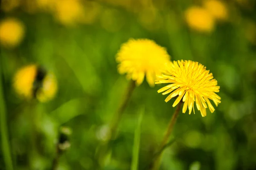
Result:
[[14,77],[14,88],[17,94],[32,99],[33,83],[37,74],[37,65],[28,65],[21,68]]

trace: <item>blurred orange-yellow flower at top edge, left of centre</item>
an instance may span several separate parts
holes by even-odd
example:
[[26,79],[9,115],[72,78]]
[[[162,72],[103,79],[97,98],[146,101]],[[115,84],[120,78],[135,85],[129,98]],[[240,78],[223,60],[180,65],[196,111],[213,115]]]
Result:
[[75,25],[84,18],[84,9],[80,0],[59,0],[55,8],[55,17],[64,25]]

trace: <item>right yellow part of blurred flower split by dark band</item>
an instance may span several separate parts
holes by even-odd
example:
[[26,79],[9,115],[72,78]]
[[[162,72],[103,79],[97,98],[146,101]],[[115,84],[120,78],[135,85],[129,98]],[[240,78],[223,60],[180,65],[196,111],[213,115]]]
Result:
[[40,102],[47,102],[55,96],[57,89],[57,80],[54,74],[48,73],[44,78],[42,88],[38,90],[36,97]]

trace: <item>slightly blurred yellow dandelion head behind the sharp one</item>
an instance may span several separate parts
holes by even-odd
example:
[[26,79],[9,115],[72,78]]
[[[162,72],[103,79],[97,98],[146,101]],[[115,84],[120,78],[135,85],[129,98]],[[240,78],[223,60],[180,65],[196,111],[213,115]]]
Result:
[[147,39],[128,40],[116,55],[120,74],[126,73],[127,78],[136,81],[137,85],[146,77],[151,87],[154,86],[156,75],[161,74],[160,69],[169,62],[169,59],[165,48]]

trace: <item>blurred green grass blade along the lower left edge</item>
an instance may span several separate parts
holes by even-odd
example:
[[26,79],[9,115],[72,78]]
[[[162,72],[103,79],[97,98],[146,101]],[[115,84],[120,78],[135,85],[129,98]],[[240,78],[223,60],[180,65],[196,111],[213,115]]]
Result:
[[6,105],[3,96],[3,82],[2,82],[2,72],[0,68],[0,128],[1,128],[1,139],[2,139],[2,150],[3,157],[6,164],[6,170],[13,170],[12,166],[12,156],[10,152],[8,127],[6,124]]

